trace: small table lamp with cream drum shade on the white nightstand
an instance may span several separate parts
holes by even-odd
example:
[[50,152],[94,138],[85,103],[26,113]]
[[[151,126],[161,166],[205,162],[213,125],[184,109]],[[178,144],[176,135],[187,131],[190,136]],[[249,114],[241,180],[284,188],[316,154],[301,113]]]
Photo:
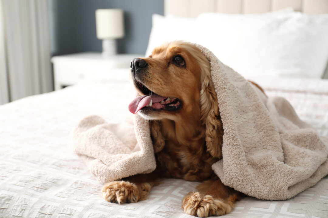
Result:
[[124,14],[122,9],[96,10],[97,38],[102,40],[102,54],[117,53],[116,40],[124,37]]

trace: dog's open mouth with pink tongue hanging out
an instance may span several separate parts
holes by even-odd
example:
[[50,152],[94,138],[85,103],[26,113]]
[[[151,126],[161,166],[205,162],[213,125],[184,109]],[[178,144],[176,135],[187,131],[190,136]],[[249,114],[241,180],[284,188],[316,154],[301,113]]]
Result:
[[181,109],[181,101],[178,98],[160,96],[136,80],[134,85],[144,95],[136,97],[129,104],[131,113],[136,114],[139,110],[146,112],[158,110],[176,111]]

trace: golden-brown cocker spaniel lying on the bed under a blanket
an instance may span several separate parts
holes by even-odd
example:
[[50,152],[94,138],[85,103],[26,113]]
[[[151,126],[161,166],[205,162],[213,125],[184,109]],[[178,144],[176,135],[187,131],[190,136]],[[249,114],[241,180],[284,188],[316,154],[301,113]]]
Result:
[[185,213],[229,213],[241,193],[225,186],[211,168],[222,158],[223,127],[210,62],[195,45],[175,41],[155,48],[148,58],[133,59],[130,68],[140,96],[129,110],[150,122],[156,169],[106,183],[102,197],[133,203],[146,199],[160,178],[180,178],[202,182],[183,198]]

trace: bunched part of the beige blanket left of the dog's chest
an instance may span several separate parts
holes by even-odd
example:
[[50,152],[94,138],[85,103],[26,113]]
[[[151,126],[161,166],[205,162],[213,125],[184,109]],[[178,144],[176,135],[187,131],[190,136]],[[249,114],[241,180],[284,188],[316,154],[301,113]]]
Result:
[[156,168],[149,124],[140,116],[135,116],[134,127],[108,124],[95,115],[86,117],[74,127],[69,145],[102,183]]

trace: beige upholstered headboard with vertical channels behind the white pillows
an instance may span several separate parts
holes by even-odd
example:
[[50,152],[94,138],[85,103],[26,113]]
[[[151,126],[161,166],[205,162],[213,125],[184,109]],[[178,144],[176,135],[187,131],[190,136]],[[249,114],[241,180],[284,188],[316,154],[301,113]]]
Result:
[[204,12],[264,13],[294,8],[308,14],[328,13],[328,0],[165,0],[165,15],[196,17]]

